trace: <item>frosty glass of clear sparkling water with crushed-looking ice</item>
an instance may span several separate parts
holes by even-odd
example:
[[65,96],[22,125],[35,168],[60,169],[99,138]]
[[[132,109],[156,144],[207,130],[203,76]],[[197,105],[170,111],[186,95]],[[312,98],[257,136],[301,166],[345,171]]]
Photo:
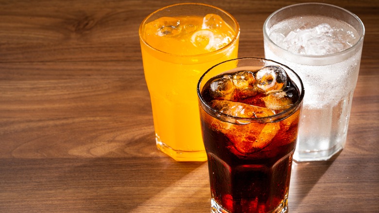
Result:
[[265,57],[287,65],[304,82],[293,159],[330,159],[345,147],[362,54],[362,21],[334,5],[294,4],[266,19],[263,36]]

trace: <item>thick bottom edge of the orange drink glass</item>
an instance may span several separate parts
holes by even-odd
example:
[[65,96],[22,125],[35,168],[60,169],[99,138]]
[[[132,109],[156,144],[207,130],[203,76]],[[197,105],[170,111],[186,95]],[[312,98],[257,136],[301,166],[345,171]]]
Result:
[[170,156],[176,161],[207,161],[207,153],[205,150],[200,151],[182,151],[175,150],[168,146],[166,143],[162,142],[158,135],[155,134],[156,147]]

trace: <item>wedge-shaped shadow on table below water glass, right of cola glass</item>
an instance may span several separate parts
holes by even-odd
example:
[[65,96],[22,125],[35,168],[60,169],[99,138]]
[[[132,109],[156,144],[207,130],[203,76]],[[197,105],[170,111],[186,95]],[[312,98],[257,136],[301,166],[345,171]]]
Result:
[[296,207],[302,203],[312,188],[316,186],[319,179],[325,174],[340,153],[325,161],[293,161],[289,193],[289,209],[291,212],[299,212]]

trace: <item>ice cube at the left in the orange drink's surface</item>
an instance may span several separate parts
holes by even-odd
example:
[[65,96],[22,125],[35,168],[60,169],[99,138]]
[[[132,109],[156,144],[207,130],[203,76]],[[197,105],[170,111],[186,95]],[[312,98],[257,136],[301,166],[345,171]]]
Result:
[[180,34],[182,26],[180,20],[171,17],[162,17],[155,20],[155,26],[157,28],[156,35],[158,36],[175,36]]

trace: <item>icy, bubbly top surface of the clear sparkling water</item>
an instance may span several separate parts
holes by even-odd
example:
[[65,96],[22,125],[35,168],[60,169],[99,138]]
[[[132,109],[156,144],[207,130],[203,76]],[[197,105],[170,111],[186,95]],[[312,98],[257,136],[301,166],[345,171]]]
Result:
[[281,21],[270,29],[269,37],[281,48],[303,55],[339,53],[360,38],[355,28],[347,23],[322,16]]

